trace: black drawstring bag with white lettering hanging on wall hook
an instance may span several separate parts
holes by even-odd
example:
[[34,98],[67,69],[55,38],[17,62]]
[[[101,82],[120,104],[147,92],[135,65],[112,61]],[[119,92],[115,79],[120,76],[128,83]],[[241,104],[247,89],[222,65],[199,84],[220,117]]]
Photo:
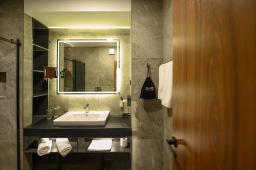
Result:
[[150,65],[146,63],[147,77],[141,88],[140,99],[156,99],[156,89],[153,81],[151,80]]

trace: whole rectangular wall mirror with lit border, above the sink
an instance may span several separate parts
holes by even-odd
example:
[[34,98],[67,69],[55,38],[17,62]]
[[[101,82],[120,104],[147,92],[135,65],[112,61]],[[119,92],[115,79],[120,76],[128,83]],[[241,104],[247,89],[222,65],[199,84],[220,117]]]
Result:
[[57,93],[119,93],[119,40],[58,40]]

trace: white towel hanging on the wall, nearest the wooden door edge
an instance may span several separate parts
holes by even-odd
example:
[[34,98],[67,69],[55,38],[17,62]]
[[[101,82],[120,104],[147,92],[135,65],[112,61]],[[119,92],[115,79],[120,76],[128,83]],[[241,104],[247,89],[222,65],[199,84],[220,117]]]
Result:
[[162,105],[172,107],[173,96],[173,61],[165,63],[164,87],[162,95]]

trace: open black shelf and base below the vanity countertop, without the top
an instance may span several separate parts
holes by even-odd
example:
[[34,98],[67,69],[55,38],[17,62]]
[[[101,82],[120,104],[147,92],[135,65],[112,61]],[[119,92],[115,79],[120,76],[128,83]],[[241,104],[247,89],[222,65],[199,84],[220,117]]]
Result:
[[53,143],[49,155],[37,155],[39,138],[33,137],[29,139],[31,141],[29,142],[30,144],[25,144],[25,153],[32,154],[34,167],[33,169],[65,169],[67,166],[69,169],[73,169],[76,167],[76,164],[79,165],[77,166],[79,169],[88,169],[90,167],[94,167],[93,169],[102,170],[108,166],[113,168],[116,167],[115,163],[108,165],[108,160],[111,162],[116,162],[116,164],[121,167],[121,169],[123,169],[123,167],[125,167],[125,169],[131,169],[131,138],[129,138],[129,143],[125,148],[120,146],[120,138],[111,138],[111,151],[88,151],[88,147],[94,138],[80,139],[82,140],[79,141],[78,138],[69,138],[72,151],[66,157],[60,156],[55,138],[51,138]]

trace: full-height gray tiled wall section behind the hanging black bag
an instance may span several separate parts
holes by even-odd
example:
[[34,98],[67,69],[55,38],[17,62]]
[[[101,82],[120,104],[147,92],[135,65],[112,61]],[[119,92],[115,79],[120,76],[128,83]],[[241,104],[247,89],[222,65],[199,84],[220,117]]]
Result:
[[132,0],[132,169],[163,169],[163,109],[158,99],[139,99],[146,62],[158,88],[163,62],[162,0]]

